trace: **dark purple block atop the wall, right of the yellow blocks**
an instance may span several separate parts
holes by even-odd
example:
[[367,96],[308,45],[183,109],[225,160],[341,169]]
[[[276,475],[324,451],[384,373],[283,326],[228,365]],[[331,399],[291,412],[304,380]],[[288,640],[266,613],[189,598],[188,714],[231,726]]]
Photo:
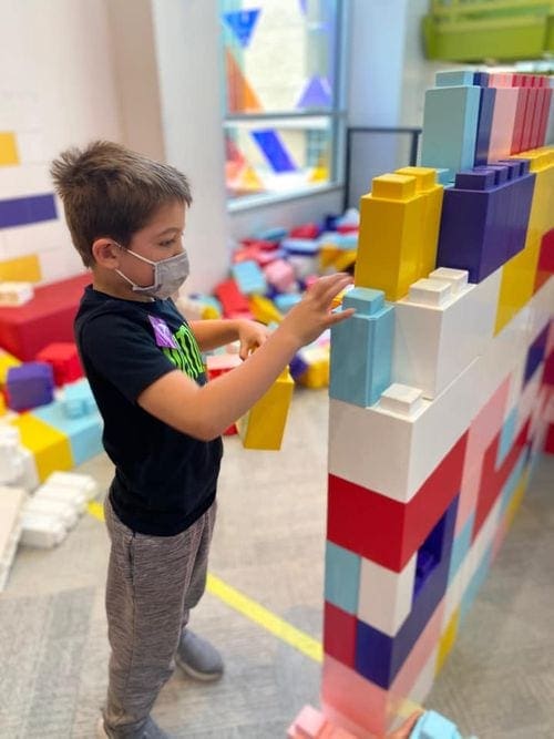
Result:
[[523,249],[534,175],[517,176],[521,168],[497,163],[456,175],[444,191],[438,266],[480,283]]

